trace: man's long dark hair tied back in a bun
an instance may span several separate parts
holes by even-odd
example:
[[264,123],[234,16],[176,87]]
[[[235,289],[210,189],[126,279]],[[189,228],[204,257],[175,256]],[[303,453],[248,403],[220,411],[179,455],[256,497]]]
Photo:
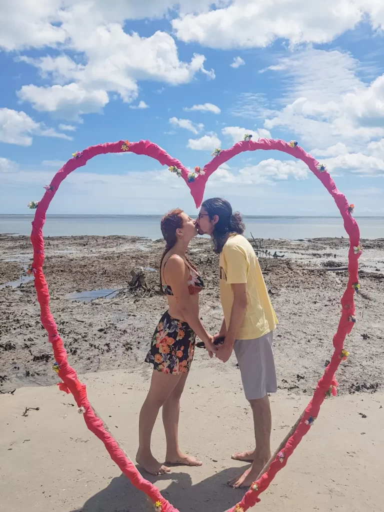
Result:
[[206,199],[201,205],[207,212],[209,219],[212,220],[215,215],[219,221],[215,224],[212,240],[214,241],[214,252],[220,254],[225,242],[231,234],[243,234],[245,225],[238,211],[232,212],[232,206],[220,197]]

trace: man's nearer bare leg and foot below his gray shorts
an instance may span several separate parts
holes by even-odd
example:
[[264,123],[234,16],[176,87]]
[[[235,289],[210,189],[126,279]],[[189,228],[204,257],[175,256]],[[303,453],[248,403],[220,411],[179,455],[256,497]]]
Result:
[[253,452],[251,466],[244,473],[228,482],[233,488],[250,487],[271,457],[272,417],[268,395],[258,400],[250,400],[249,403],[253,413],[254,437],[257,450],[255,449]]

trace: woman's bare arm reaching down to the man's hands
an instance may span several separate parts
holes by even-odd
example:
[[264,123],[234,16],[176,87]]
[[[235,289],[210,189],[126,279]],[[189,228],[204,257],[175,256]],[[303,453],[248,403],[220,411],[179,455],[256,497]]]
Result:
[[200,321],[198,313],[191,304],[188,291],[189,269],[184,260],[177,254],[173,254],[166,262],[166,269],[163,273],[166,283],[172,288],[172,292],[178,302],[180,311],[187,324],[193,329],[199,338],[204,342],[205,348],[210,352],[216,352],[212,344],[212,336],[207,333]]

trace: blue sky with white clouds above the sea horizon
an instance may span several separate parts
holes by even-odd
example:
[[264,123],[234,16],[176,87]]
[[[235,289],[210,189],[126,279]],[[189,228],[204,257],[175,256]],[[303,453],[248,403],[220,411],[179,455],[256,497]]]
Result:
[[[4,4],[4,5],[3,5]],[[150,139],[192,168],[254,138],[295,139],[355,215],[384,216],[384,4],[377,0],[14,0],[0,19],[0,213],[21,214],[74,151]],[[150,17],[148,17],[148,15]],[[246,215],[337,215],[302,162],[243,153],[205,197]],[[195,212],[133,154],[96,157],[51,214]]]

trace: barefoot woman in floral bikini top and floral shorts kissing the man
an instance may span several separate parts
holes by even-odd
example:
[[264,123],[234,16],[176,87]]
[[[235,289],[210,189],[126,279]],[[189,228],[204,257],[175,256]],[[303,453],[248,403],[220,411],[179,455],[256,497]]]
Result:
[[212,336],[199,318],[198,293],[204,286],[203,280],[186,256],[189,242],[198,233],[196,221],[177,208],[163,217],[161,232],[166,247],[160,262],[160,286],[166,295],[168,310],[160,319],[145,358],[153,364],[154,371],[150,391],[140,411],[136,455],[137,463],[152,475],[170,471],[151,452],[151,435],[161,407],[166,437],[165,464],[202,464],[179,448],[180,397],[194,357],[196,335],[204,342],[210,357],[216,352]]

